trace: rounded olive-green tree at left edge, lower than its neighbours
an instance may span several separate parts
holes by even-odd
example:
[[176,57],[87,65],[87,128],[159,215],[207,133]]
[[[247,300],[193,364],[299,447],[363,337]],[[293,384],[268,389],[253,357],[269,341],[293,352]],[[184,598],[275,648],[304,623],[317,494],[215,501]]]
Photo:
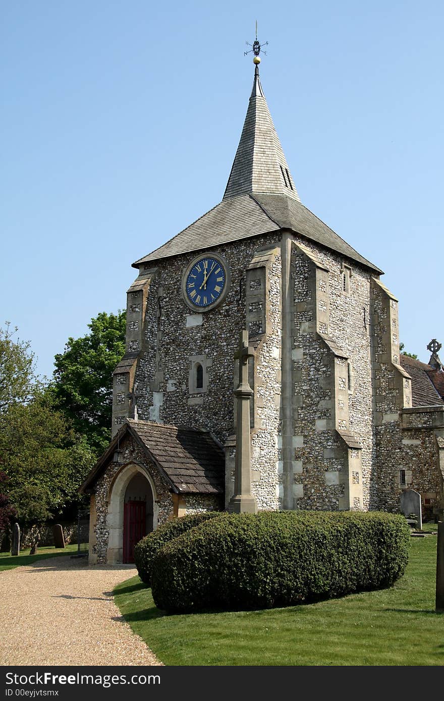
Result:
[[84,437],[55,411],[51,394],[40,389],[27,404],[11,404],[0,414],[4,491],[18,521],[32,525],[79,503],[79,486],[95,456]]

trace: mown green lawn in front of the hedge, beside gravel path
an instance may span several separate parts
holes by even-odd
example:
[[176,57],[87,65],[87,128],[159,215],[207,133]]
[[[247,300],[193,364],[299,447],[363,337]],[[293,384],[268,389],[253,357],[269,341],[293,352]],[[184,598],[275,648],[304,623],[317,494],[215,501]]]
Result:
[[133,577],[116,587],[115,601],[166,665],[443,665],[444,615],[434,610],[436,536],[411,542],[408,569],[393,587],[342,599],[167,615]]

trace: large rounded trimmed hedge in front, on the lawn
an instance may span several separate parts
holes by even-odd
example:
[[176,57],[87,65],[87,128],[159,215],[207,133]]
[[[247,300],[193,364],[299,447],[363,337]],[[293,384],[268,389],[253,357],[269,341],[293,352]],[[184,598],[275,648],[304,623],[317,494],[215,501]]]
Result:
[[270,608],[391,586],[410,529],[384,512],[261,512],[206,522],[154,558],[152,593],[166,611]]

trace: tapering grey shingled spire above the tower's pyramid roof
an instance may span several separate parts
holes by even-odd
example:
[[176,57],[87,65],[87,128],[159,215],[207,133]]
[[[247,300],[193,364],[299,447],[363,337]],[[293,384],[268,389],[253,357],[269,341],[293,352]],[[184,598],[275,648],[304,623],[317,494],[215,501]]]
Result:
[[287,195],[300,202],[260,84],[259,68],[224,200],[238,195]]

